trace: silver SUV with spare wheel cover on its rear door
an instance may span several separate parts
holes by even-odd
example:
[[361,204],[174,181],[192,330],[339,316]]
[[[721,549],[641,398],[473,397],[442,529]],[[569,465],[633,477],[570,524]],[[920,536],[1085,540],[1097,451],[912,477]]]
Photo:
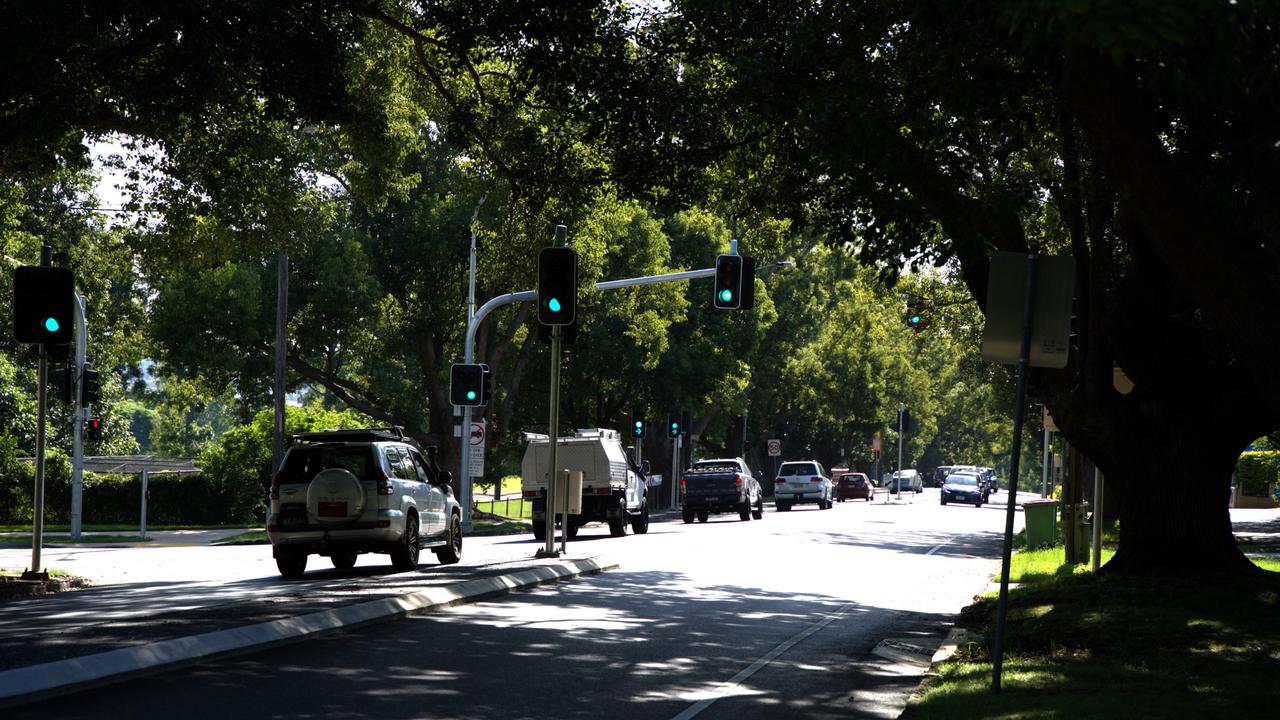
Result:
[[442,564],[462,557],[462,510],[435,447],[424,456],[401,428],[305,433],[289,442],[266,518],[282,575],[301,577],[310,555],[347,570],[356,556],[383,552],[399,571],[417,569],[420,548]]

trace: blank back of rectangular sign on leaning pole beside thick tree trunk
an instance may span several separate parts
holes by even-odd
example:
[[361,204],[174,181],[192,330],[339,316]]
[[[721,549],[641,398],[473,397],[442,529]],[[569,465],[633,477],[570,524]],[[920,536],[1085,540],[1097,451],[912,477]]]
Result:
[[[1016,365],[1023,340],[1027,299],[1025,252],[996,252],[987,278],[987,325],[982,333],[982,359]],[[1028,365],[1065,368],[1071,340],[1071,299],[1075,296],[1075,259],[1070,255],[1036,259],[1036,300]]]

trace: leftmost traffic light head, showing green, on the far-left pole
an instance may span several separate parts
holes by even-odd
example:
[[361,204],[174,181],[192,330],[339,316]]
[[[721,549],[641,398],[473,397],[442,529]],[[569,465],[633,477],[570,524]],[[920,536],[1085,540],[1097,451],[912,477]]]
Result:
[[76,277],[67,268],[20,265],[13,273],[13,338],[68,345],[74,323]]

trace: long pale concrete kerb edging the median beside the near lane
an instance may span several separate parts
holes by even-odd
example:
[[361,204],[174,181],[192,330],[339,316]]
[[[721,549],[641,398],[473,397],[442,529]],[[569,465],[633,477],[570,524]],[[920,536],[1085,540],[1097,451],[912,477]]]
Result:
[[9,707],[105,685],[140,675],[169,671],[209,660],[311,639],[334,630],[355,628],[474,602],[543,583],[617,569],[595,559],[557,560],[509,574],[429,587],[412,593],[348,605],[298,618],[271,620],[184,638],[173,638],[72,657],[0,673],[0,707]]

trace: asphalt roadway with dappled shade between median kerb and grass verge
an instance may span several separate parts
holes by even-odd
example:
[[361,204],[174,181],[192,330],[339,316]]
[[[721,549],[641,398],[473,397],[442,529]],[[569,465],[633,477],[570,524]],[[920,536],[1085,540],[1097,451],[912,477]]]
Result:
[[[771,507],[759,521],[654,523],[626,538],[586,528],[571,553],[608,556],[620,570],[86,691],[15,717],[896,717],[955,614],[998,571],[1005,497],[973,509],[940,506],[936,489],[900,503],[882,495],[827,511]],[[525,537],[471,538],[465,557],[535,548]],[[280,587],[274,568],[246,571],[257,578],[233,583],[238,592]],[[399,575],[357,565],[285,587],[352,577]],[[216,594],[216,582],[202,582]],[[882,657],[884,641],[924,655]]]

